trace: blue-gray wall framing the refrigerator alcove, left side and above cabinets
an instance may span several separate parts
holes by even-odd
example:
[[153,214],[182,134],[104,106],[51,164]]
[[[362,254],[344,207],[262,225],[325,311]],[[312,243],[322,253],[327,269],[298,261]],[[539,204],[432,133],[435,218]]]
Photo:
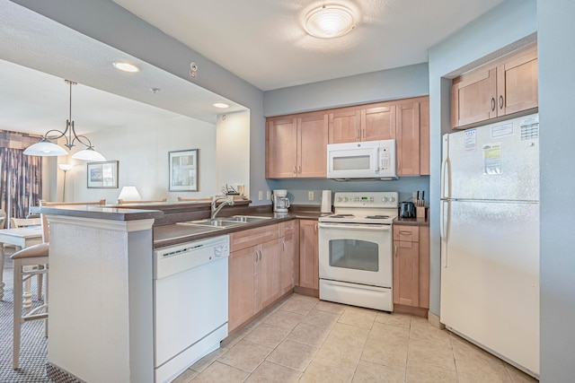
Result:
[[[450,133],[450,86],[456,74],[517,48],[517,41],[535,39],[535,0],[507,0],[429,49],[430,175],[430,310],[439,314],[439,198],[441,135]],[[471,65],[470,65],[471,64]]]

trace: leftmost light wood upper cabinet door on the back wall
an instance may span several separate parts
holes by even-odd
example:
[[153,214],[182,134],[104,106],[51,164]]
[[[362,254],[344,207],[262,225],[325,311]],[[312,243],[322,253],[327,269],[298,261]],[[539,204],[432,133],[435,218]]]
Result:
[[266,131],[266,178],[295,178],[297,176],[296,166],[296,118],[268,121]]

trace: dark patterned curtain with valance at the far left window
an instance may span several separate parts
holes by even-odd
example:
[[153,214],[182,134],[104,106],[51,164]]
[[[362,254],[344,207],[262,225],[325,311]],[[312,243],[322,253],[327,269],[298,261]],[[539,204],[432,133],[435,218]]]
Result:
[[40,205],[42,158],[24,154],[38,136],[0,131],[0,208],[6,221],[24,218],[30,206]]

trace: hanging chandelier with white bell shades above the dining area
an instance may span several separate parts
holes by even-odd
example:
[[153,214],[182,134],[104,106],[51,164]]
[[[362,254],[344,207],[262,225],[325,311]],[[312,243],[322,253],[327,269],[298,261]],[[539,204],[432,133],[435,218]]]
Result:
[[40,143],[31,144],[28,148],[26,148],[24,154],[37,155],[40,157],[66,155],[68,152],[66,152],[63,147],[57,144],[52,144],[50,142],[50,140],[57,140],[58,138],[64,137],[66,138],[66,144],[64,144],[64,146],[66,146],[68,149],[72,149],[75,146],[74,143],[76,141],[86,147],[84,150],[75,152],[75,154],[72,156],[73,159],[81,161],[106,161],[102,154],[93,150],[92,143],[88,137],[85,135],[76,135],[74,121],[72,121],[72,85],[75,85],[76,83],[70,80],[64,81],[70,85],[70,118],[66,120],[66,129],[64,132],[57,129],[49,130],[45,135],[42,135]]

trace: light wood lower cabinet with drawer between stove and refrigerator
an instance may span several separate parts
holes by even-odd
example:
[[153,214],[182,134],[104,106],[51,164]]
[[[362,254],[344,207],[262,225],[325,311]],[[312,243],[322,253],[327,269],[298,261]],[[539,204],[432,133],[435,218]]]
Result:
[[394,224],[394,304],[429,309],[429,227]]

